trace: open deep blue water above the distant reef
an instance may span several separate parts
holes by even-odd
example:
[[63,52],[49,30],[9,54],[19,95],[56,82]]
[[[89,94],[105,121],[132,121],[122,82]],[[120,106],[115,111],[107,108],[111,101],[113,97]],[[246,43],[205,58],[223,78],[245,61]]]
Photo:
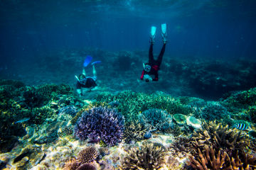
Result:
[[[1,68],[41,52],[148,50],[168,24],[166,53],[233,60],[256,55],[256,1],[0,1]],[[22,63],[22,62],[21,62]]]

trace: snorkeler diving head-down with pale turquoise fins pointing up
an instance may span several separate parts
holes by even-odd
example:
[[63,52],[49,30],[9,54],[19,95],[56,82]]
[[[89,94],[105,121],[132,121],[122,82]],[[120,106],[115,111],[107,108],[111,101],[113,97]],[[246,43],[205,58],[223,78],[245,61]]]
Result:
[[158,71],[160,69],[161,61],[164,56],[164,51],[167,42],[167,30],[166,30],[166,23],[161,24],[161,35],[163,38],[163,47],[161,48],[161,52],[157,60],[154,60],[153,56],[153,45],[154,45],[154,38],[156,37],[156,27],[151,27],[151,37],[150,37],[150,47],[149,47],[149,62],[146,64],[143,63],[143,71],[142,76],[140,77],[141,80],[145,80],[146,82],[149,81],[159,81]]

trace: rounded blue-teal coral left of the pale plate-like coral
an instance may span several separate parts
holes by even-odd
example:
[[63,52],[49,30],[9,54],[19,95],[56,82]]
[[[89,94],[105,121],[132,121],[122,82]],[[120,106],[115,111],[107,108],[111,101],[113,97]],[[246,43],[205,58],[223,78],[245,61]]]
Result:
[[140,123],[144,125],[147,130],[161,130],[164,131],[172,127],[171,116],[161,109],[149,109],[138,116]]

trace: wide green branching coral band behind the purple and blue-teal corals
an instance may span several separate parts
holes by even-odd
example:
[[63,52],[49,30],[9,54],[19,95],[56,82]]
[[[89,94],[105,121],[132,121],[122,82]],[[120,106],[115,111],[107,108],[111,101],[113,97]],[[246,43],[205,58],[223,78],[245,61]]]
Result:
[[117,109],[124,115],[126,120],[149,108],[158,108],[170,114],[182,113],[185,115],[188,115],[193,110],[167,94],[143,94],[134,91],[121,91],[117,94],[105,92],[99,94],[96,99],[107,103],[119,101]]

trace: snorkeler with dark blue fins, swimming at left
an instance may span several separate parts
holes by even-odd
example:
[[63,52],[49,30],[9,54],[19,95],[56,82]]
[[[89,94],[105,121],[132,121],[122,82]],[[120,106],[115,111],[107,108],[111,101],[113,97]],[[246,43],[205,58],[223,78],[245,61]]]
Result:
[[75,76],[76,79],[78,79],[76,88],[79,96],[82,96],[82,88],[87,88],[89,91],[95,88],[97,86],[97,72],[95,69],[95,64],[100,63],[100,61],[92,62],[92,73],[93,77],[86,77],[85,67],[90,63],[90,60],[92,60],[92,57],[87,56],[84,62],[84,69],[82,69],[82,74],[79,75],[79,77]]

